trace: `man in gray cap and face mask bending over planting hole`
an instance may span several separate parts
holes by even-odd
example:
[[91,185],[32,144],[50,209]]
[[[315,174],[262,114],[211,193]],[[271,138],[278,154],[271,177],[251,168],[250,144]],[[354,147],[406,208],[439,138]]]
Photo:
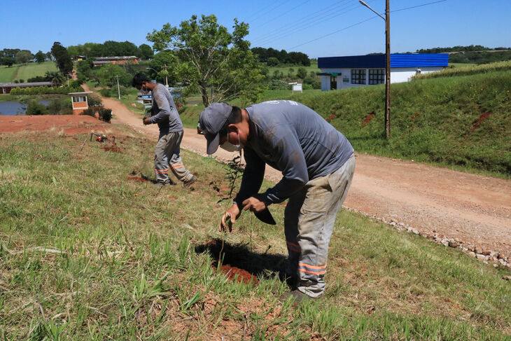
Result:
[[[246,109],[214,103],[202,111],[200,125],[208,154],[218,146],[230,151],[243,149],[246,161],[241,188],[223,214],[219,229],[231,230],[242,209],[259,213],[270,204],[289,199],[284,212],[286,275],[297,279],[297,289],[286,297],[302,300],[322,295],[335,216],[355,170],[349,141],[312,109],[287,100]],[[258,193],[265,164],[279,169],[283,178]]]

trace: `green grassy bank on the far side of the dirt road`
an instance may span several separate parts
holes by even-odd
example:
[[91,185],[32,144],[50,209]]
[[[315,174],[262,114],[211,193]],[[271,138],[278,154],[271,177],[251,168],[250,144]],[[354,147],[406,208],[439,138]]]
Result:
[[[290,90],[268,91],[264,100],[293,99],[310,106],[343,132],[359,153],[509,179],[511,69],[506,65],[446,70],[447,77],[393,84],[390,141],[384,138],[384,85],[296,95]],[[181,118],[195,127],[200,111],[188,107]]]

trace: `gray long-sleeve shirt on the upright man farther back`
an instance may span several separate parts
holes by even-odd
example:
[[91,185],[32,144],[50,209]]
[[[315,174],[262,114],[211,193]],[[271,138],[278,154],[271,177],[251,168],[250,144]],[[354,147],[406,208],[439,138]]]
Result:
[[153,89],[153,115],[149,118],[150,123],[158,123],[160,136],[169,132],[181,132],[183,123],[179,118],[179,113],[174,104],[174,99],[170,95],[165,85],[158,84]]

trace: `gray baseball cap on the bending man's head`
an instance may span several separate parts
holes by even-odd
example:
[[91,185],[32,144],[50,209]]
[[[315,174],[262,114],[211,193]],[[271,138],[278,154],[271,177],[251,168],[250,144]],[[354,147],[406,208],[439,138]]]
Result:
[[213,154],[220,144],[218,132],[227,122],[232,106],[227,103],[213,103],[200,113],[199,123],[207,140],[207,153]]

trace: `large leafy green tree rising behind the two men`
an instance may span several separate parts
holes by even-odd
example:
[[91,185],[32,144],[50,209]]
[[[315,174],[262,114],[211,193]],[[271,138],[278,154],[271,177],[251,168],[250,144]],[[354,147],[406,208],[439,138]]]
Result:
[[[255,102],[262,88],[258,57],[244,40],[248,24],[234,20],[232,34],[218,25],[215,15],[193,15],[179,27],[163,25],[160,31],[147,35],[156,51],[170,50],[176,57],[174,68],[179,78],[188,85],[186,93],[200,92],[204,106],[209,106],[209,91],[214,101],[221,102],[241,97]],[[171,71],[169,71],[171,72]]]

